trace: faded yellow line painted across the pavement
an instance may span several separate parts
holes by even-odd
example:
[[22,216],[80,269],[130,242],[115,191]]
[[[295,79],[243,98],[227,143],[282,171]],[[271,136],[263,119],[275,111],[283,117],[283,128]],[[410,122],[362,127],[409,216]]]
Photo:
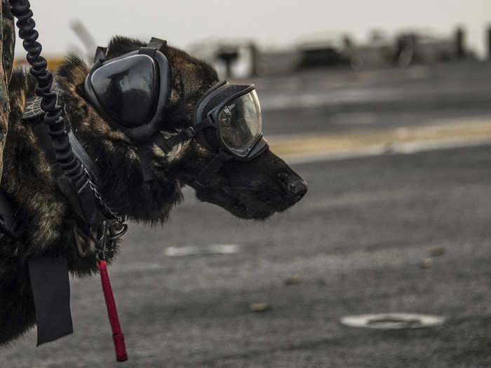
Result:
[[342,156],[372,149],[397,151],[399,146],[408,147],[415,144],[444,147],[452,144],[473,145],[491,142],[491,118],[435,123],[389,130],[278,136],[269,139],[269,145],[275,154],[288,159],[302,156]]

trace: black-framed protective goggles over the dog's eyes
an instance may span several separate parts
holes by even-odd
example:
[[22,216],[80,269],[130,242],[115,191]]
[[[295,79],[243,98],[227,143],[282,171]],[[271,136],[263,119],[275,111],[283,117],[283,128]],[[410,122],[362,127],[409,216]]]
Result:
[[262,135],[262,116],[254,85],[215,84],[196,104],[196,138],[206,148],[241,161],[252,160],[267,149]]

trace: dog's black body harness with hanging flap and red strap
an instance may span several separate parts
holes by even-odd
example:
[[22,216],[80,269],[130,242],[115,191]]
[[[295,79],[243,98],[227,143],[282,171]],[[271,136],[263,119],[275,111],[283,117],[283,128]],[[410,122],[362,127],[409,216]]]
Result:
[[[60,102],[60,89],[56,85],[54,85],[53,89],[58,104]],[[119,351],[119,357],[124,357],[126,356],[126,351],[124,349],[123,334],[117,320],[116,305],[114,297],[112,297],[105,259],[107,256],[112,256],[116,239],[126,233],[128,226],[124,223],[125,219],[116,214],[102,199],[97,190],[100,169],[87,154],[86,150],[83,149],[83,145],[74,133],[68,132],[67,135],[74,156],[81,163],[88,177],[86,184],[82,186],[82,191],[90,188],[100,203],[100,209],[97,209],[100,212],[97,216],[101,218],[101,226],[97,229],[97,233],[94,233],[94,229],[86,219],[87,206],[83,205],[81,191],[74,190],[69,177],[56,160],[55,149],[49,137],[48,127],[43,123],[44,111],[41,108],[41,101],[41,97],[38,96],[30,97],[26,100],[22,121],[32,125],[34,134],[46,155],[46,160],[53,170],[55,182],[76,214],[77,221],[72,225],[72,246],[76,248],[80,257],[96,254],[97,268],[100,270],[103,291],[108,301],[108,313],[112,315],[110,322],[113,329],[116,330],[116,334],[114,334],[116,351]],[[63,117],[68,120],[65,109],[63,109]],[[20,208],[15,207],[8,194],[0,191],[0,231],[11,237],[16,243],[19,242],[25,231],[22,226],[22,218],[18,215],[19,212]],[[28,267],[36,308],[38,345],[53,341],[66,334],[71,334],[73,327],[69,306],[70,292],[67,260],[62,257],[38,257],[29,259]]]

